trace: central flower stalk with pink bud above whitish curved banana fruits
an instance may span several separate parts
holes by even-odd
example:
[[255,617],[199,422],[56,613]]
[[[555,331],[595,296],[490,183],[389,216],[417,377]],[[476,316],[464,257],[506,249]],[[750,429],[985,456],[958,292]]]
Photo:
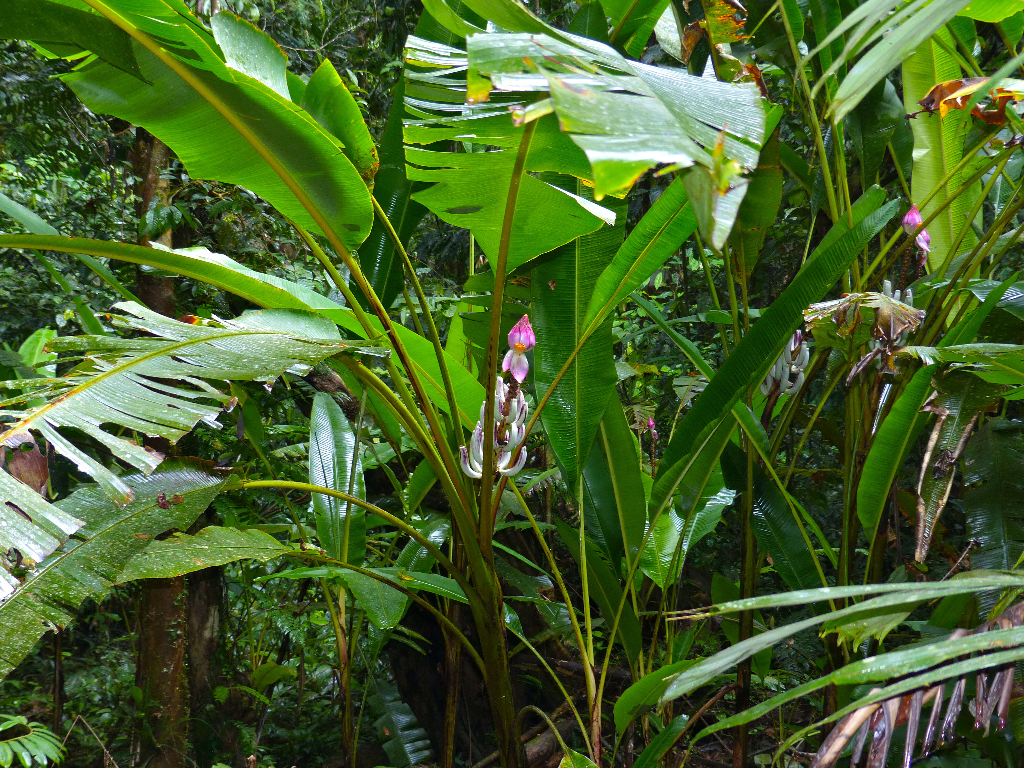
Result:
[[[519,385],[526,380],[529,373],[529,361],[526,352],[537,344],[529,317],[525,314],[509,332],[509,351],[502,361],[502,370],[510,374],[511,381],[506,382],[501,376],[495,381],[495,444],[497,452],[495,471],[511,477],[518,474],[526,464],[525,449],[519,452],[518,458],[512,462],[515,450],[526,438],[526,416],[529,406],[523,396]],[[483,418],[486,402],[480,403],[480,419],[470,438],[469,445],[460,447],[462,471],[470,477],[483,476]]]

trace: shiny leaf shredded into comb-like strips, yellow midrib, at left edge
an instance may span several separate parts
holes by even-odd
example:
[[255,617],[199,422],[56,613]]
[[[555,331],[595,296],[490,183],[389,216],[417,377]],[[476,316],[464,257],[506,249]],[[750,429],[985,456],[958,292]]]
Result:
[[[58,427],[79,429],[120,460],[152,472],[162,456],[111,434],[102,425],[115,424],[176,442],[200,420],[219,426],[216,417],[221,409],[200,400],[233,406],[227,394],[202,379],[271,383],[296,366],[312,366],[354,349],[341,341],[333,323],[312,312],[267,309],[239,319],[194,326],[131,302],[116,306],[126,312],[112,316],[116,325],[153,336],[53,339],[49,345],[53,351],[89,353],[87,360],[58,379],[36,380],[38,384],[30,392],[9,398],[6,404],[40,398],[45,402],[8,412],[16,421],[0,433],[0,443],[16,447],[34,439],[31,432],[42,434],[80,471],[95,477],[117,504],[127,504],[134,498],[131,487],[71,442],[57,431]],[[189,388],[173,386],[167,380],[187,380]]]

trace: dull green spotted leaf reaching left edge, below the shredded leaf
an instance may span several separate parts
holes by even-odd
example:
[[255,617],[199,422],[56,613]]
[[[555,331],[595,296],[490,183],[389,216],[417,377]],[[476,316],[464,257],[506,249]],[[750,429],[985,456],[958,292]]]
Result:
[[58,502],[62,512],[86,523],[78,541],[27,566],[18,575],[18,588],[0,602],[0,678],[20,664],[43,633],[72,621],[69,606],[74,609],[104,594],[155,537],[188,527],[228,478],[226,470],[212,464],[174,459],[148,476],[122,476],[134,497],[127,506],[111,504],[94,487]]

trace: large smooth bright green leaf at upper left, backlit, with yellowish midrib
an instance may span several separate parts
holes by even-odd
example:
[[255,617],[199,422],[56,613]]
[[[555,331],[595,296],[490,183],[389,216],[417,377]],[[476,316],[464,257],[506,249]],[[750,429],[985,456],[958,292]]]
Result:
[[[338,140],[292,103],[287,57],[263,32],[222,12],[208,33],[183,4],[91,0],[141,45],[144,82],[97,63],[63,76],[93,112],[140,125],[188,175],[252,189],[306,228],[355,249],[370,233],[370,191]],[[146,44],[163,51],[156,55]]]

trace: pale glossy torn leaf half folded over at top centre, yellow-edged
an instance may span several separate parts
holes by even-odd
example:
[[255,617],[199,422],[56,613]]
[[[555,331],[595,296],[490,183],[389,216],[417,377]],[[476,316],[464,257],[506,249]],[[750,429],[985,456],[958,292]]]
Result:
[[[765,111],[756,87],[629,61],[592,40],[574,42],[536,34],[473,35],[467,40],[469,67],[489,76],[496,89],[550,92],[562,130],[591,162],[597,199],[625,193],[655,165],[710,166],[723,131],[725,156],[757,166]],[[531,61],[545,62],[541,77]],[[577,74],[579,62],[594,72]]]

